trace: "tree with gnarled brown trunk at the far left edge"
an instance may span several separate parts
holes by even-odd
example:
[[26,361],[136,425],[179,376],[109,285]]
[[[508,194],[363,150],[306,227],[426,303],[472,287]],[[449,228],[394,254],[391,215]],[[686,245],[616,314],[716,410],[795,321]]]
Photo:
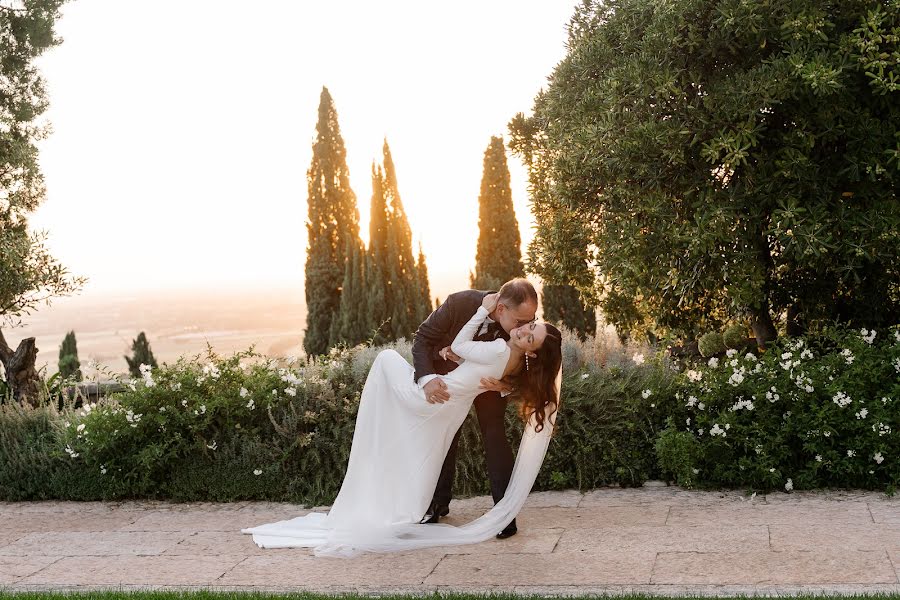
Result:
[[[44,200],[37,141],[47,134],[44,81],[35,59],[61,40],[54,33],[65,0],[0,0],[0,325],[13,325],[42,302],[77,291],[72,277],[32,233],[27,217]],[[16,398],[35,401],[34,338],[13,350],[0,331],[0,362]]]

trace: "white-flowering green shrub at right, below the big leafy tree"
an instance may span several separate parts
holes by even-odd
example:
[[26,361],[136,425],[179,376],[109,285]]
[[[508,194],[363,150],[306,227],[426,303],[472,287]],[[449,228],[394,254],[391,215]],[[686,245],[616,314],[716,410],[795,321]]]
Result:
[[668,439],[689,435],[700,451],[675,460],[675,445],[659,446],[670,473],[787,491],[900,482],[896,328],[881,337],[829,329],[759,357],[728,350],[688,370],[676,399]]

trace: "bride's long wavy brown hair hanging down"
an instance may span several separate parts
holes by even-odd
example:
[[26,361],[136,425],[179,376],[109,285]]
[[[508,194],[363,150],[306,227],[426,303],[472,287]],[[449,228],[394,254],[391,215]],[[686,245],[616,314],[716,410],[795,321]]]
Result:
[[514,377],[515,395],[522,401],[522,419],[527,423],[534,415],[535,431],[541,431],[548,415],[559,408],[556,406],[556,375],[562,364],[562,334],[550,323],[544,323],[544,327],[547,337],[535,351],[537,358],[529,358],[528,369],[522,369]]

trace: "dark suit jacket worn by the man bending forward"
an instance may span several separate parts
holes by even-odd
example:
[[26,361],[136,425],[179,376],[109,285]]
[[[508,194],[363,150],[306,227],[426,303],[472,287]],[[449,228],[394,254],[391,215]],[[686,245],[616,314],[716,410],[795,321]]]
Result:
[[[425,375],[446,375],[457,367],[452,360],[444,360],[438,352],[446,348],[456,334],[469,322],[478,307],[481,306],[484,297],[493,292],[481,290],[465,290],[450,294],[447,299],[435,310],[425,322],[419,326],[413,339],[413,365],[416,368],[415,380]],[[496,337],[509,339],[509,334],[503,331],[499,323],[493,325]],[[482,327],[478,340],[493,338],[485,336],[485,328]]]

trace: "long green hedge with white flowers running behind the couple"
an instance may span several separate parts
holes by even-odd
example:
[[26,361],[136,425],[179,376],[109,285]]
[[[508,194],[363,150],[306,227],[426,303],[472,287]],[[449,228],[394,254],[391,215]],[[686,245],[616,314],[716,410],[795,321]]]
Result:
[[[566,335],[563,409],[536,489],[658,478],[762,490],[783,489],[788,478],[798,489],[896,487],[896,329],[872,343],[868,333],[832,330],[781,342],[760,358],[729,351],[684,372],[613,338]],[[408,344],[391,347],[410,357]],[[96,404],[0,405],[0,499],[330,503],[366,373],[382,349],[311,363],[252,348],[224,358],[209,352],[145,371]],[[838,406],[839,392],[849,405]],[[513,406],[507,424],[515,445]],[[842,455],[847,449],[854,455]],[[474,414],[458,456],[456,494],[487,493]]]

